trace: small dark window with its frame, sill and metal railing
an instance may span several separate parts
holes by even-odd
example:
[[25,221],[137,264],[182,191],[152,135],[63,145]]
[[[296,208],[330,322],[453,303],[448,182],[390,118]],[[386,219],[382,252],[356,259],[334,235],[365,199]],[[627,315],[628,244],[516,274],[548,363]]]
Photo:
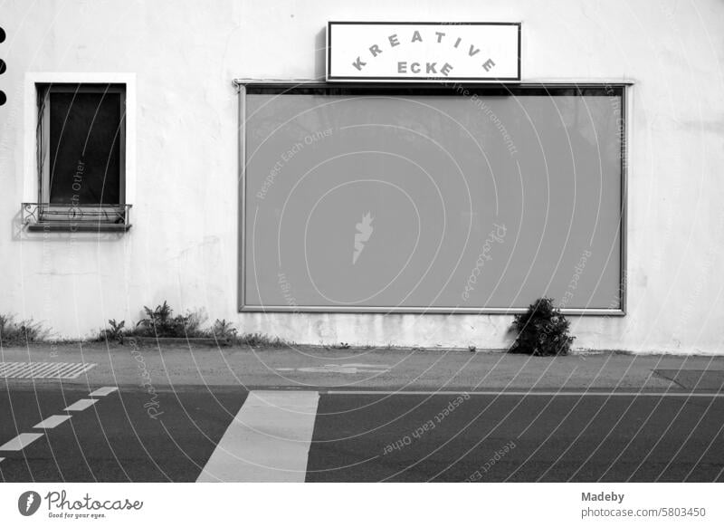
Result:
[[38,84],[39,228],[127,230],[124,84]]

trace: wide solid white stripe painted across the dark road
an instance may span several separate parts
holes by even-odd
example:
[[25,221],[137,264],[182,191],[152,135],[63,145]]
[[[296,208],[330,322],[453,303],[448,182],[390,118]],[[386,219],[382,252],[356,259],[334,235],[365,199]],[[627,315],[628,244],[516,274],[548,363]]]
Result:
[[304,482],[316,391],[249,392],[198,482]]

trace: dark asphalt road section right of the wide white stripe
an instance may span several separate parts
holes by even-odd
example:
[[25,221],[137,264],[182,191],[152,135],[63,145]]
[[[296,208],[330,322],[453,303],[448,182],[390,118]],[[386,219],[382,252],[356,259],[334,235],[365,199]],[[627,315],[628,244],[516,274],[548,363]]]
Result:
[[455,399],[322,398],[307,480],[724,480],[721,398]]

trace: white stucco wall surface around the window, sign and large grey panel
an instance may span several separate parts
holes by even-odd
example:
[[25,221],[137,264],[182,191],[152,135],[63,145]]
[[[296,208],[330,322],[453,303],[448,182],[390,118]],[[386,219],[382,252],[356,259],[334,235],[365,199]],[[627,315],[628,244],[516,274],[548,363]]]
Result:
[[[324,74],[328,20],[520,21],[524,81],[633,81],[628,314],[574,317],[576,347],[721,352],[724,3],[10,0],[0,4],[0,312],[89,336],[167,299],[305,343],[505,347],[510,317],[237,312],[233,78]],[[27,85],[37,72],[135,76],[126,235],[31,235]],[[32,159],[33,153],[30,153]],[[29,181],[28,178],[31,178]]]

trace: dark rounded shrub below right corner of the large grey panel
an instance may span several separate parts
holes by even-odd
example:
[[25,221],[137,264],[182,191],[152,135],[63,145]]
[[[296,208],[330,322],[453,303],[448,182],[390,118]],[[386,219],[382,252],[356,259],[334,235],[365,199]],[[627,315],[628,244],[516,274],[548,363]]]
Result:
[[570,321],[550,298],[540,298],[528,311],[515,315],[512,329],[517,333],[510,351],[536,356],[567,355],[575,337],[568,334]]

